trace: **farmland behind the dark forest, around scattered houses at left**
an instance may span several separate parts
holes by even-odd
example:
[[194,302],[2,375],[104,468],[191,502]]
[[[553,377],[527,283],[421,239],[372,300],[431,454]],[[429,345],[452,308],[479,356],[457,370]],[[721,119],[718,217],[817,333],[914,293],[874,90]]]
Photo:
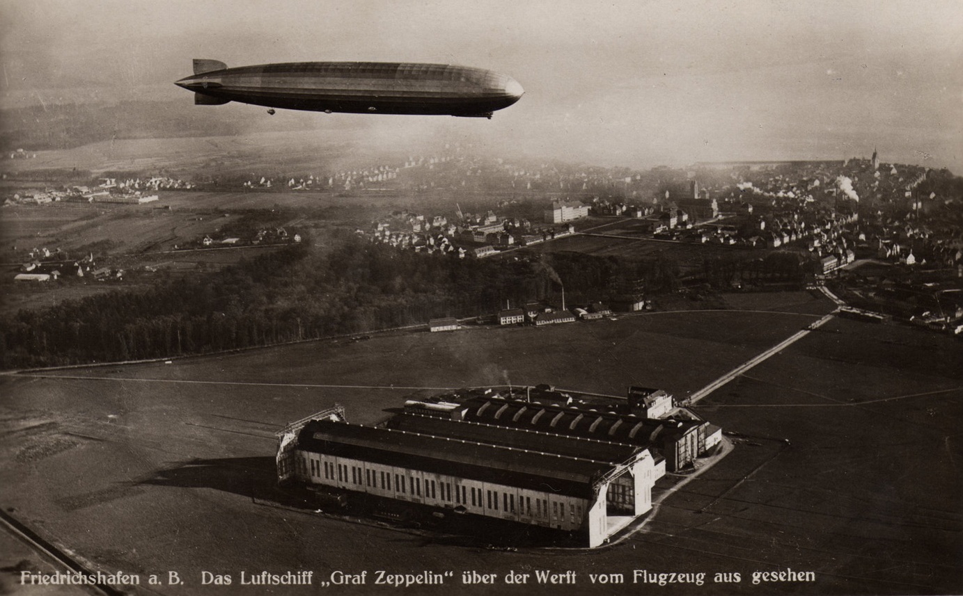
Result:
[[[0,227],[0,313],[44,308],[114,289],[145,288],[157,275],[148,267],[195,274],[275,250],[249,245],[183,250],[199,248],[205,235],[222,237],[222,227],[251,211],[260,213],[265,226],[282,226],[310,236],[316,250],[325,250],[330,229],[348,225],[341,218],[363,218],[366,210],[378,209],[369,207],[368,198],[319,193],[161,191],[158,195],[158,201],[145,205],[51,203],[5,208]],[[338,221],[326,216],[324,210],[330,209],[338,210]],[[283,213],[273,213],[278,210]],[[33,248],[59,248],[72,260],[93,254],[97,267],[123,269],[127,275],[123,282],[104,284],[77,279],[75,268],[64,267],[64,278],[57,282],[14,282],[20,265],[31,260],[28,252]]]

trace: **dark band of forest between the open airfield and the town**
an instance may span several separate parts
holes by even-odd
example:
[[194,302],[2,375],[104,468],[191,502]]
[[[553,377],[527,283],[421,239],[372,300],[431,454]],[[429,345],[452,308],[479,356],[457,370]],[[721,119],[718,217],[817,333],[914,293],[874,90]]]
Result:
[[117,290],[0,322],[0,366],[168,358],[476,317],[532,300],[607,300],[625,280],[679,285],[673,261],[575,253],[459,260],[344,232],[325,253],[292,245],[216,273]]

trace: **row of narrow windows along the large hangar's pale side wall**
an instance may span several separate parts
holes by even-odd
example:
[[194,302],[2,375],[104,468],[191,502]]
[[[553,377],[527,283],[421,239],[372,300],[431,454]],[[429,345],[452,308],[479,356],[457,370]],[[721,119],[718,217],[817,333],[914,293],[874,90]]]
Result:
[[[307,471],[307,465],[305,464],[305,459],[296,459],[299,462],[299,467],[303,471]],[[329,461],[317,461],[315,459],[308,459],[311,467],[311,476],[321,477],[324,476],[325,480],[335,481],[339,483],[348,483],[349,477],[351,478],[351,484],[356,484],[358,486],[370,486],[373,488],[380,487],[382,490],[392,490],[392,473],[385,472],[383,470],[373,470],[367,468],[361,468],[354,465],[345,465],[342,463],[332,463]],[[349,472],[349,469],[351,470]],[[407,479],[405,481],[405,479]],[[394,474],[394,490],[402,494],[411,494],[414,496],[421,497],[424,489],[424,496],[427,499],[440,500],[446,503],[451,503],[455,505],[468,506],[468,494],[466,486],[464,484],[458,486],[455,485],[455,489],[452,488],[452,483],[449,482],[436,482],[428,478],[419,481],[417,478],[412,476],[405,476],[402,474]],[[438,498],[440,493],[441,497]],[[454,499],[453,499],[454,495]],[[482,499],[482,497],[484,497]],[[499,502],[501,500],[501,503]],[[518,509],[515,506],[515,494],[509,492],[500,492],[498,490],[491,490],[472,486],[471,487],[471,505],[475,508],[486,508],[493,511],[502,510],[506,513],[514,513],[527,515],[529,517],[534,517],[537,519],[547,519],[549,518],[549,501],[548,499],[534,499],[534,512],[532,508],[532,497],[531,496],[518,496]],[[575,524],[582,519],[582,505],[576,505],[573,503],[568,504],[568,517],[569,523]],[[552,502],[552,516],[553,521],[564,521],[565,518],[565,504],[559,501]]]

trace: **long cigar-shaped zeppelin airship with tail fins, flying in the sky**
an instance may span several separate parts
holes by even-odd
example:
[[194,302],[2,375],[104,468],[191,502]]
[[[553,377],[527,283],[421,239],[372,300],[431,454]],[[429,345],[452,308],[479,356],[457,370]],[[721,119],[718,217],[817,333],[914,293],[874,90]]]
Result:
[[311,112],[447,114],[491,118],[524,93],[508,75],[483,68],[412,62],[287,62],[228,68],[195,60],[175,85],[194,103],[241,102]]

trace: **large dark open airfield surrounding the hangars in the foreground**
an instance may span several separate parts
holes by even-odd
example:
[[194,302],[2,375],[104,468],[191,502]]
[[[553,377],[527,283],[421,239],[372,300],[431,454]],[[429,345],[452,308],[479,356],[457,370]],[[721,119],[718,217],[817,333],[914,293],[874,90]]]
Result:
[[[740,434],[734,452],[671,494],[642,531],[595,551],[490,551],[261,498],[273,482],[273,432],[333,403],[374,422],[405,395],[464,385],[610,394],[649,385],[684,396],[832,308],[805,292],[724,299],[734,310],[8,375],[0,506],[94,568],[185,579],[143,593],[207,593],[202,570],[262,569],[324,579],[367,570],[369,582],[378,569],[455,571],[454,585],[418,593],[960,593],[963,352],[903,327],[833,319],[700,402],[699,413]],[[816,581],[751,582],[753,571],[787,567]],[[537,569],[573,570],[577,584],[501,584],[509,570]],[[710,577],[656,587],[632,584],[637,569]],[[461,585],[465,570],[500,584]],[[626,584],[591,585],[587,574],[600,572],[624,573]],[[716,572],[742,582],[717,586]]]

